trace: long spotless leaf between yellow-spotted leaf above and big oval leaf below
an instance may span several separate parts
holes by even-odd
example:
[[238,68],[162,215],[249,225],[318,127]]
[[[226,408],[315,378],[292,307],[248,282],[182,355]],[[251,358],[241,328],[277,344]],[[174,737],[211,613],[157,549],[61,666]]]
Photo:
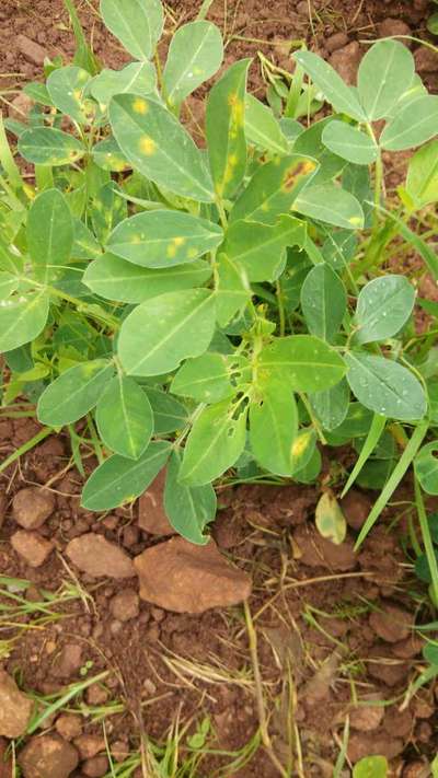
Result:
[[107,253],[88,266],[82,281],[105,300],[140,303],[165,292],[200,287],[210,276],[210,265],[200,259],[150,270]]

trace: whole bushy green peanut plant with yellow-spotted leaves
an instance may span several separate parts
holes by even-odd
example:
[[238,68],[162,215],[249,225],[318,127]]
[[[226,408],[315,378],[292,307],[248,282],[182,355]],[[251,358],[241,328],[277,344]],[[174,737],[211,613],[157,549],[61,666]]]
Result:
[[[350,444],[344,492],[381,490],[360,543],[413,463],[418,499],[438,493],[437,330],[416,334],[415,275],[387,270],[397,236],[438,279],[419,230],[438,200],[438,97],[400,42],[369,48],[356,88],[297,50],[274,109],[246,91],[250,59],[221,70],[204,130],[189,96],[221,68],[218,27],[177,28],[163,63],[160,0],[101,13],[132,62],[100,69],[83,44],[24,88],[26,125],[4,121],[34,178],[0,128],[3,407],[26,395],[68,428],[79,467],[92,448],[89,510],[166,466],[169,520],[197,544],[229,471],[310,484],[321,446]],[[312,101],[331,113],[307,121]],[[388,201],[383,153],[416,147]],[[320,529],[342,542],[342,521]]]

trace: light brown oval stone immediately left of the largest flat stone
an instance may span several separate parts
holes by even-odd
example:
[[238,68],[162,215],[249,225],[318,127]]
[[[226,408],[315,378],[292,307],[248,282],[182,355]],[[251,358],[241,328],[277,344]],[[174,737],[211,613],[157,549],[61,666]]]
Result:
[[88,532],[70,541],[66,548],[69,559],[80,570],[95,578],[131,578],[135,569],[128,555],[103,535]]

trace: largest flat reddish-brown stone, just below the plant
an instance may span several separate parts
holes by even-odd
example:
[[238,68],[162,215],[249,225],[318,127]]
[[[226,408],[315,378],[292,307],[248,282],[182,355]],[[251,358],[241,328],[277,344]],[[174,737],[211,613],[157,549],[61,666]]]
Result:
[[204,613],[246,600],[251,578],[231,566],[214,541],[196,546],[172,537],[147,548],[134,560],[140,597],[166,611]]

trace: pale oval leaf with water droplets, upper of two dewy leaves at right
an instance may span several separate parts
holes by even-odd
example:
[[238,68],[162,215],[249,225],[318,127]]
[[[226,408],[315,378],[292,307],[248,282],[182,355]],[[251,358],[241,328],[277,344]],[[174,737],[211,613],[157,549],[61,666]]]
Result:
[[369,281],[360,291],[354,341],[368,344],[390,338],[403,327],[412,314],[415,291],[404,276],[382,276]]

